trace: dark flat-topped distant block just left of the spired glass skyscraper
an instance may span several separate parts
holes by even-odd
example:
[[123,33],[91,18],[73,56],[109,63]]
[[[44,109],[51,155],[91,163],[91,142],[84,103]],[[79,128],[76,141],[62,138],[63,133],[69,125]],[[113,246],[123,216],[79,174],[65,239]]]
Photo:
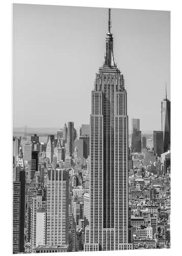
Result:
[[158,157],[164,153],[163,131],[153,131],[153,151]]

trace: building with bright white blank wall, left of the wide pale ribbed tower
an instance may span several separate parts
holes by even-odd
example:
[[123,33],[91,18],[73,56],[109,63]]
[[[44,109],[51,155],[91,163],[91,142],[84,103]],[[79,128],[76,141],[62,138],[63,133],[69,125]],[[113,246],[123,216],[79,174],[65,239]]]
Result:
[[46,244],[46,201],[43,201],[42,190],[32,198],[31,215],[31,248]]

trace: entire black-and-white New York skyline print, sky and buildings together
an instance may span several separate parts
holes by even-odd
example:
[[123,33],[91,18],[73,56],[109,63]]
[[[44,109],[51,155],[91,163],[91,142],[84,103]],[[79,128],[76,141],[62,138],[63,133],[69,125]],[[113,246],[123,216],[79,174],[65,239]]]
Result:
[[171,248],[170,17],[12,5],[14,254]]

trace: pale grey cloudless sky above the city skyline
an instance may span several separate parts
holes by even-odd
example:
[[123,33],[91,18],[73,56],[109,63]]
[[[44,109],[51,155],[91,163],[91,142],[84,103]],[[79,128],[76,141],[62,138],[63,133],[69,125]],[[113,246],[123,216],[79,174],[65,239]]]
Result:
[[[114,57],[124,75],[129,129],[161,129],[170,99],[170,12],[111,9]],[[108,9],[13,5],[13,126],[89,123],[104,59]]]

